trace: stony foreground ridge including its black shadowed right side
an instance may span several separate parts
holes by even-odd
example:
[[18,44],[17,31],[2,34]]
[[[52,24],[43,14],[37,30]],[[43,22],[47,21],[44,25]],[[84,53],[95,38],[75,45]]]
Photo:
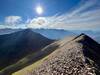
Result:
[[59,48],[26,75],[100,75],[100,45],[85,34],[58,42]]

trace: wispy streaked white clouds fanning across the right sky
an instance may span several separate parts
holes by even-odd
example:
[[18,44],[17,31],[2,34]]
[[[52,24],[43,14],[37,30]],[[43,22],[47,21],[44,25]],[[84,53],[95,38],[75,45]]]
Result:
[[[39,28],[66,30],[96,30],[100,28],[100,1],[84,0],[80,6],[60,16],[45,17],[46,24]],[[98,2],[99,1],[99,2]],[[82,4],[83,3],[83,4]],[[98,8],[99,7],[99,8]],[[34,20],[35,21],[35,20]],[[38,28],[33,21],[32,27]]]

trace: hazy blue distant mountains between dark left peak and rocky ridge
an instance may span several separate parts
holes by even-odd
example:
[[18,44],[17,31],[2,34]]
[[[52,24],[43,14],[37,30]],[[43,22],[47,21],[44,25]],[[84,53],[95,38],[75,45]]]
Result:
[[63,29],[33,29],[34,32],[40,33],[50,39],[63,39],[64,37],[75,36],[72,31]]

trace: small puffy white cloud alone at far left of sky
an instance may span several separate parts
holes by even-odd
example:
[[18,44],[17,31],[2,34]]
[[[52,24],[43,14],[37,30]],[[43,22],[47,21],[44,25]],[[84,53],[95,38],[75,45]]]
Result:
[[5,24],[7,25],[16,25],[22,21],[20,16],[7,16],[5,18]]

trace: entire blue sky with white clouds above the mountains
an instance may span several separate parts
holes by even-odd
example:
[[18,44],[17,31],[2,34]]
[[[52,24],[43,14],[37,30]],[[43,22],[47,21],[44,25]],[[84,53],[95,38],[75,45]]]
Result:
[[99,30],[100,0],[0,0],[0,28]]

